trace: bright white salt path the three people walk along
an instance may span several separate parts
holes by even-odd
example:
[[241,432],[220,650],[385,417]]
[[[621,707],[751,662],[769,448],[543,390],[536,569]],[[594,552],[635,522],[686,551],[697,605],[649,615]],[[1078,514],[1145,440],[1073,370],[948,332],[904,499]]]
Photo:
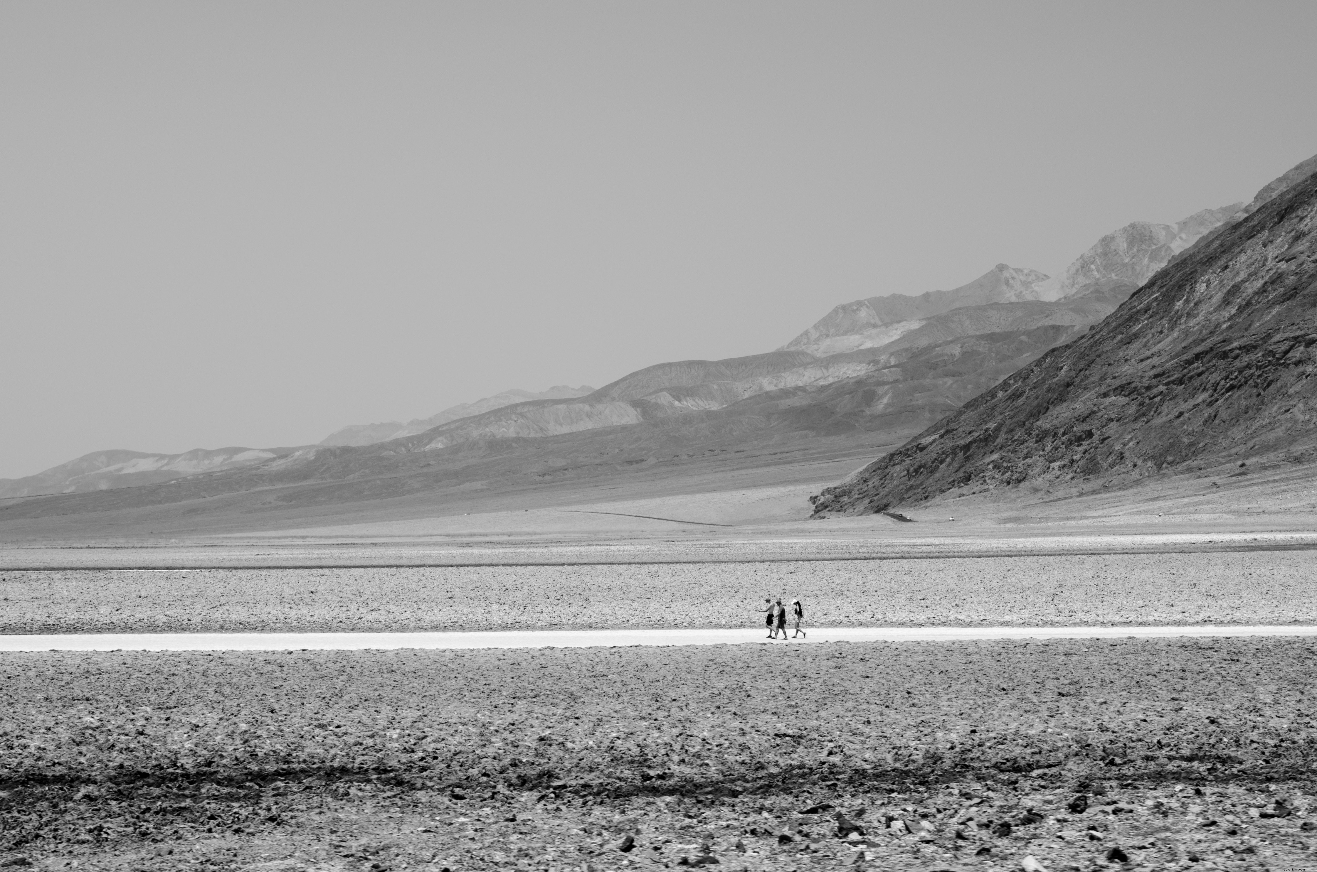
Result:
[[840,627],[772,641],[761,628],[525,630],[491,632],[128,632],[0,635],[4,651],[362,651],[367,648],[608,648],[624,645],[960,641],[975,639],[1162,639],[1317,636],[1317,627]]

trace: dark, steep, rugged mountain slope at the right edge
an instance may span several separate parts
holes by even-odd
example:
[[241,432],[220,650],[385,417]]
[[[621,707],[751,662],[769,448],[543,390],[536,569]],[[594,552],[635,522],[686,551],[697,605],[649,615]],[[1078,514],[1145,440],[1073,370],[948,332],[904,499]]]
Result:
[[[1162,269],[1044,354],[849,481],[815,514],[947,493],[1317,460],[1317,177]],[[1238,466],[1235,466],[1238,464]]]

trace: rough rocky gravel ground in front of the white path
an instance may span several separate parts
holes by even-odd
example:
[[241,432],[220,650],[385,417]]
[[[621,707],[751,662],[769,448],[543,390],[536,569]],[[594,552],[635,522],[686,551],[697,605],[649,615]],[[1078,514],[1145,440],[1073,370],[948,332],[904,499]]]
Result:
[[0,863],[1313,868],[1314,655],[11,653]]

